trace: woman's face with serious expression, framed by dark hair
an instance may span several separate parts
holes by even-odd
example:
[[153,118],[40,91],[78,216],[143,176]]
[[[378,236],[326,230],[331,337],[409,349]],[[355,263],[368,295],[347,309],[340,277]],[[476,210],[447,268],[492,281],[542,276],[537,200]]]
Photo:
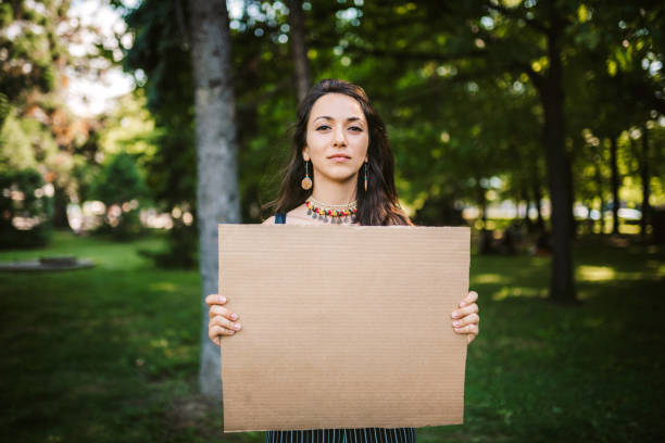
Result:
[[316,179],[356,180],[368,144],[369,128],[355,99],[327,93],[314,102],[302,156],[312,161]]

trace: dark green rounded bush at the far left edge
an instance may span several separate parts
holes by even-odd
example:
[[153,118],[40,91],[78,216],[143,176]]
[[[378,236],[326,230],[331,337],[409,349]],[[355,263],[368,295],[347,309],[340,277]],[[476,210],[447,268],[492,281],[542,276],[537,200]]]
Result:
[[53,208],[43,185],[35,169],[0,170],[0,249],[36,248],[49,242]]

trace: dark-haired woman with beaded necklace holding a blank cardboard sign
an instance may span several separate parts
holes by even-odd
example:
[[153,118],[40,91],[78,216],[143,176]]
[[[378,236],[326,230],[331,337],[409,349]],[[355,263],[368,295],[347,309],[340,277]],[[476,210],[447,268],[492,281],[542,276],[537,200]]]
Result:
[[[365,91],[342,80],[325,79],[302,101],[293,134],[293,155],[286,168],[276,215],[264,224],[412,225],[400,208],[393,159],[386,128]],[[478,294],[469,292],[451,313],[451,327],[470,343],[478,334]],[[239,316],[211,294],[210,339],[241,330]],[[415,442],[413,428],[268,431],[266,442]]]

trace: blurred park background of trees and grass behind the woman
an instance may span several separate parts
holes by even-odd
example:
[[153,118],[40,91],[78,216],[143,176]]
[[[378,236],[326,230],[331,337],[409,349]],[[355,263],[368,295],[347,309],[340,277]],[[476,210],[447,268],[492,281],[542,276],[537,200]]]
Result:
[[664,13],[645,0],[3,1],[2,435],[262,441],[221,433],[201,306],[216,243],[199,239],[271,215],[298,100],[336,77],[386,121],[414,221],[473,228],[481,333],[465,423],[418,440],[657,440]]

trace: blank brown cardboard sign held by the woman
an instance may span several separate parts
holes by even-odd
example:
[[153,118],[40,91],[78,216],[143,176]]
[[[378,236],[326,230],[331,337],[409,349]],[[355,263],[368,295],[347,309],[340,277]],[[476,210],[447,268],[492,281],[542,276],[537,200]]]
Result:
[[224,430],[461,423],[469,229],[219,225]]

